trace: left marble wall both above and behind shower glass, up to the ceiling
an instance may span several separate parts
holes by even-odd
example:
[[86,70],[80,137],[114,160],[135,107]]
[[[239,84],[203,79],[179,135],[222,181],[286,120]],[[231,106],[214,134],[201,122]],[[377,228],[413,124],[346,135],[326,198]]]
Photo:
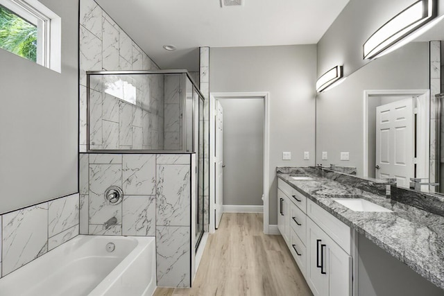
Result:
[[[80,1],[79,49],[80,152],[85,152],[87,144],[85,72],[158,70],[159,67],[94,0]],[[158,137],[159,132],[161,134],[163,132],[163,106],[162,103],[157,102],[163,100],[163,77],[137,78],[133,83],[137,85],[137,97],[141,100],[137,106],[124,107],[116,100],[113,102],[107,94],[103,93],[102,80],[92,79],[91,86],[95,91],[91,93],[93,112],[91,148],[161,149],[163,147],[163,138]],[[148,108],[148,106],[151,107]],[[130,116],[126,125],[120,117],[122,112],[127,112],[126,114]],[[144,119],[140,119],[139,124],[134,123],[133,117],[139,117],[139,115]],[[150,119],[151,122],[148,122]],[[146,124],[142,125],[142,123]],[[146,127],[145,130],[143,130],[144,127]],[[126,132],[122,133],[125,137],[119,137],[119,129],[125,128]]]

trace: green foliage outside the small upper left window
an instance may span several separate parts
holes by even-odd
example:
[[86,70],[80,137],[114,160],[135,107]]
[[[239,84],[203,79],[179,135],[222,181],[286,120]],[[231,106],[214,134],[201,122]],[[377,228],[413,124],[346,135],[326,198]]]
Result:
[[0,48],[37,61],[37,27],[0,6]]

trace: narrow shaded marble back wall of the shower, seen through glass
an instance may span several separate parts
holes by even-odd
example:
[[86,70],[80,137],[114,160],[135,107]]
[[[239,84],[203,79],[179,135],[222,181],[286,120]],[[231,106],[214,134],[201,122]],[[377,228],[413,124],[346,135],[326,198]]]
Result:
[[164,96],[164,148],[182,150],[182,75],[165,75]]

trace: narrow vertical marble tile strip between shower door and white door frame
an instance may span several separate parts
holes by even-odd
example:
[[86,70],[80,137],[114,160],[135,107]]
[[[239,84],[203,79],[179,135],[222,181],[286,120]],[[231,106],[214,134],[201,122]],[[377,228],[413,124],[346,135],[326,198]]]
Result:
[[[199,48],[199,89],[205,98],[204,106],[204,130],[210,128],[210,47]],[[205,133],[204,138],[204,227],[205,232],[208,232],[210,225],[210,133]]]

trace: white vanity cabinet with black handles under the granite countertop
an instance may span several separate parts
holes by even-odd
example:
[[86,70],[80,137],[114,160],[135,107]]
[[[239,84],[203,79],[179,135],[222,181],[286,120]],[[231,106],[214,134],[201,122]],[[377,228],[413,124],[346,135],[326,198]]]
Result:
[[278,179],[278,228],[316,296],[352,296],[351,229]]

